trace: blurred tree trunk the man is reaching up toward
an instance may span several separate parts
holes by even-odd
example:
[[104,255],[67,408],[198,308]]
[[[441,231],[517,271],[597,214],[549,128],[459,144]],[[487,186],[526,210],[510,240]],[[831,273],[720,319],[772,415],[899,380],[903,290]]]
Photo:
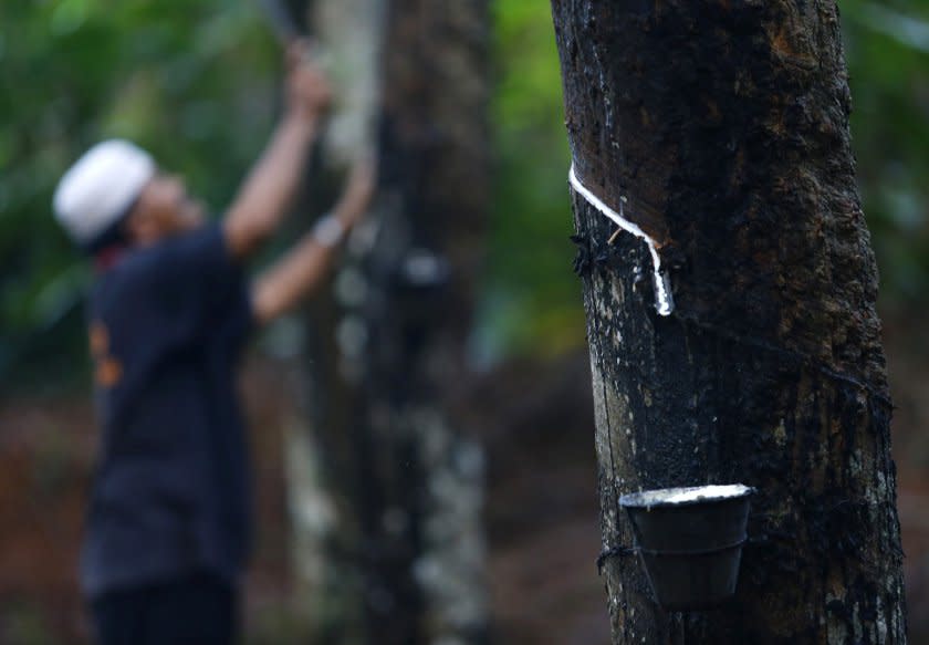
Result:
[[[312,429],[289,455],[304,602],[327,643],[482,643],[483,452],[446,403],[488,207],[487,6],[317,0],[312,17],[349,85],[323,156],[364,147],[372,119],[346,113],[379,107],[380,188],[309,325]],[[352,89],[352,56],[378,91]]]

